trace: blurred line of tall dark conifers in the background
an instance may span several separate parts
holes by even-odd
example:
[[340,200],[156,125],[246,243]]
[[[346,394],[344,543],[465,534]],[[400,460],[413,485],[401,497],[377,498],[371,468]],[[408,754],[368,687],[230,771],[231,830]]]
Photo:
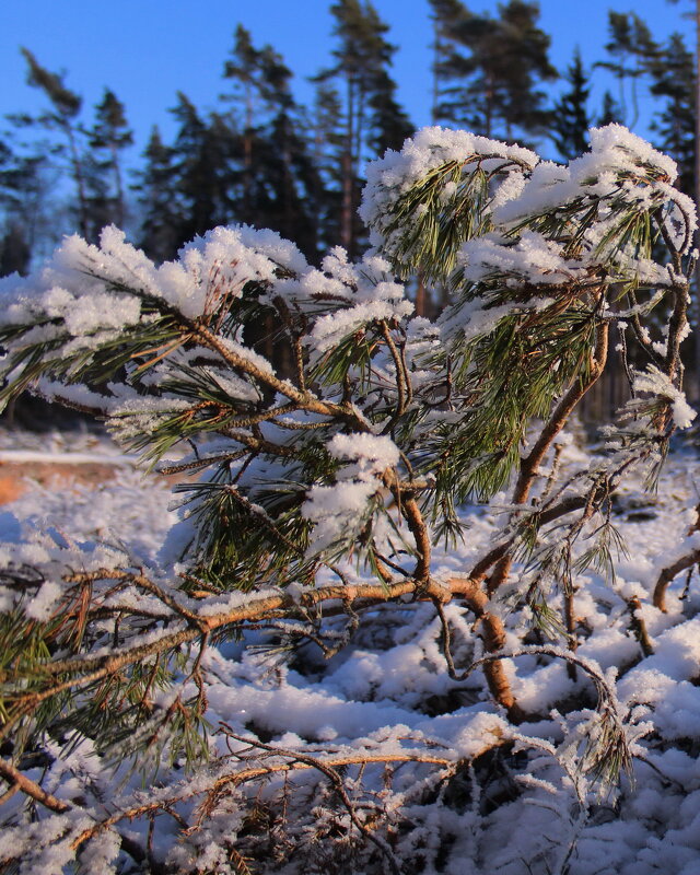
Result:
[[[509,0],[493,13],[475,13],[462,0],[429,4],[434,124],[547,143],[568,160],[587,148],[592,125],[634,127],[644,89],[655,98],[644,119],[655,145],[679,163],[680,187],[692,192],[696,66],[681,34],[660,42],[635,13],[610,12],[605,56],[586,67],[576,51],[560,72],[537,2]],[[364,162],[400,149],[413,125],[392,75],[396,46],[374,5],[336,0],[330,12],[332,48],[313,79],[311,105],[295,98],[280,54],[238,25],[217,108],[205,112],[177,93],[172,140],[153,127],[136,168],[126,166],[133,132],[118,96],[106,89],[90,114],[63,75],[22,48],[46,108],[10,117],[0,137],[0,273],[25,272],[63,231],[94,242],[109,223],[126,225],[156,260],[233,222],[273,229],[312,261],[337,244],[355,256],[366,243],[357,213]],[[594,68],[614,82],[597,107]],[[49,194],[56,189],[60,203]]]

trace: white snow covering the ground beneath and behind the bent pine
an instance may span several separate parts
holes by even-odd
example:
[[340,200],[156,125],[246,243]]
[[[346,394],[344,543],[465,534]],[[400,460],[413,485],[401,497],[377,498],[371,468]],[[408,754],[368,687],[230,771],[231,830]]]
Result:
[[[1,432],[0,450],[47,452],[59,457],[67,452],[93,457],[116,452],[88,435],[39,440]],[[572,451],[570,464],[586,464],[585,454]],[[479,766],[477,760],[468,777],[460,779],[462,784],[453,779],[440,793],[431,790],[434,779],[424,766],[396,770],[390,792],[381,790],[380,772],[368,770],[365,781],[377,782],[376,798],[384,793],[387,817],[400,825],[394,833],[395,851],[408,861],[407,872],[699,875],[698,576],[688,583],[684,574],[672,585],[666,614],[651,605],[658,571],[677,552],[695,520],[699,491],[700,462],[688,452],[669,458],[655,494],[644,492],[639,482],[626,485],[614,506],[614,522],[627,546],[617,578],[606,582],[588,571],[581,579],[576,617],[582,643],[578,653],[595,661],[604,672],[612,669],[618,675],[620,714],[639,727],[631,730],[639,735],[633,748],[634,784],[623,778],[619,790],[612,789],[604,797],[588,796],[591,804],[585,809],[578,804],[576,791],[581,791],[580,782],[584,795],[591,788],[572,765],[573,751],[581,755],[585,733],[594,725],[590,709],[595,696],[585,674],[579,672],[574,678],[561,660],[541,654],[510,661],[508,670],[518,701],[534,715],[516,736],[493,705],[478,672],[463,681],[448,679],[439,646],[440,627],[430,604],[405,603],[371,611],[350,645],[327,662],[311,646],[287,663],[273,650],[244,650],[235,642],[210,650],[210,723],[217,726],[224,721],[235,732],[253,733],[288,749],[336,754],[358,747],[396,752],[428,745],[432,750],[469,758],[488,746],[489,738],[514,740],[528,759],[518,759],[509,747],[502,756],[491,756],[487,765]],[[35,485],[1,509],[0,533],[12,539],[13,520],[28,520],[38,528],[51,527],[68,540],[129,544],[131,555],[145,560],[158,551],[175,520],[168,511],[171,501],[168,489],[152,477],[143,478],[129,465],[117,466],[114,479],[97,487]],[[438,559],[443,569],[468,567],[499,522],[476,508],[466,509],[465,515],[470,523],[466,542]],[[631,595],[641,597],[654,648],[646,657],[631,631]],[[472,618],[456,604],[446,612],[457,667],[463,668],[478,655]],[[514,632],[512,629],[509,644],[517,643]],[[253,633],[248,643],[260,645],[264,641],[261,633]],[[221,736],[211,744],[218,755],[226,752]],[[85,778],[85,762],[91,759],[81,750],[67,757],[57,752],[48,770],[48,783],[59,797],[74,797],[77,786],[88,793],[95,775],[103,786],[108,785],[109,779],[94,757],[92,777]],[[133,779],[118,793],[126,798],[138,786]],[[270,782],[259,791],[270,806],[279,786],[279,782]],[[109,803],[116,804],[112,796]],[[93,800],[93,804],[100,807],[101,803]],[[316,871],[304,862],[304,836],[312,835],[326,815],[322,808],[310,810],[308,806],[303,816],[299,814],[298,832],[292,824],[288,838],[299,850],[298,856],[269,871],[290,875]],[[235,817],[226,822],[232,830],[236,822],[240,826]],[[195,836],[189,845],[175,845],[172,825],[165,818],[159,818],[158,825],[154,849],[170,854],[173,872],[229,871],[187,868],[199,865],[191,863],[194,854],[203,854],[201,847],[197,850],[199,839]],[[133,829],[138,835],[138,827]],[[211,833],[206,833],[208,840],[215,840],[214,831],[212,826]],[[382,872],[381,862],[373,865],[368,873]]]

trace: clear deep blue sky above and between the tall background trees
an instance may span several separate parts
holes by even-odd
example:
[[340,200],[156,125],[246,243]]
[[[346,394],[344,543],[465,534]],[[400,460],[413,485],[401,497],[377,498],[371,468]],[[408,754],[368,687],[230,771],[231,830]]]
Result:
[[[430,122],[431,26],[427,0],[374,0],[399,46],[395,78],[399,98],[417,127]],[[35,112],[40,98],[25,83],[25,45],[50,70],[65,70],[66,83],[82,94],[88,107],[109,86],[126,104],[142,151],[152,124],[167,132],[167,107],[184,91],[201,108],[213,108],[223,90],[221,72],[238,22],[257,45],[270,43],[296,73],[301,100],[311,92],[304,78],[328,62],[332,46],[330,0],[22,0],[0,3],[0,116]],[[495,10],[494,0],[468,0],[474,11]],[[681,12],[690,0],[638,0],[637,13],[657,37],[685,31],[693,45],[691,24]],[[607,10],[625,12],[625,0],[540,0],[541,26],[552,37],[551,59],[563,69],[574,46],[584,62],[603,57]],[[606,84],[596,73],[598,95]],[[596,100],[596,104],[598,101]],[[596,107],[597,108],[597,107]]]

